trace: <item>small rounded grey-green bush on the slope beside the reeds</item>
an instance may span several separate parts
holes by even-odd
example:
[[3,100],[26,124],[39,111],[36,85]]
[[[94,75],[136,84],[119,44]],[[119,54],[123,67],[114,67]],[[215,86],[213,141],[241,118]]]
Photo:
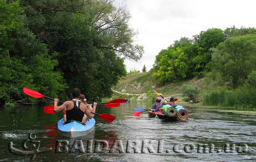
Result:
[[195,102],[200,89],[197,86],[183,84],[180,91],[186,102],[189,102],[190,100]]

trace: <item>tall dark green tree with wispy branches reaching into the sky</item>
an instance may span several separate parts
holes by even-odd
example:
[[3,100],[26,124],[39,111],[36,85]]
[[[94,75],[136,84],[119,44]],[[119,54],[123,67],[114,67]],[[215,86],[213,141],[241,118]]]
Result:
[[143,47],[134,44],[137,32],[128,26],[130,15],[112,0],[21,0],[21,5],[36,38],[49,54],[58,54],[55,70],[89,100],[110,97],[126,74],[124,59],[142,57]]

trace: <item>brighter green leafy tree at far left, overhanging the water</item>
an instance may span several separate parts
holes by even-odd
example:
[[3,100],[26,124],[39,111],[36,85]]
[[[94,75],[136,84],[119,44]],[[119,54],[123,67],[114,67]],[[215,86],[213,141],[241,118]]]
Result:
[[1,0],[0,13],[0,103],[33,100],[23,87],[57,97],[66,87],[61,73],[53,71],[58,61],[27,28],[19,1]]

